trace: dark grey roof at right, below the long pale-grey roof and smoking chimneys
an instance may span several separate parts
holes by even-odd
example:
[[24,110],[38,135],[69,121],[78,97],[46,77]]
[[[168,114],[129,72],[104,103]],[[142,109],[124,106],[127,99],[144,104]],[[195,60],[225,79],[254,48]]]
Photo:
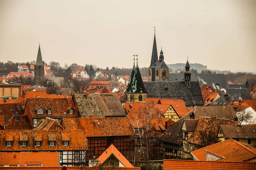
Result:
[[228,96],[224,99],[225,96],[224,94],[222,94],[220,98],[218,98],[217,100],[215,100],[215,102],[211,104],[211,106],[228,105],[230,102],[233,102],[233,101],[239,102],[239,97],[241,97],[241,99],[243,100],[250,100],[243,94],[227,94],[227,95]]

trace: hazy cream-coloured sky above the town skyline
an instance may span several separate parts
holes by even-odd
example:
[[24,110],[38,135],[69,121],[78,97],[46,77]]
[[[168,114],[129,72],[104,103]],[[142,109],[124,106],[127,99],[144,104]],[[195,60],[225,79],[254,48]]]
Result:
[[0,61],[101,68],[150,65],[154,29],[167,64],[256,71],[256,0],[0,0]]

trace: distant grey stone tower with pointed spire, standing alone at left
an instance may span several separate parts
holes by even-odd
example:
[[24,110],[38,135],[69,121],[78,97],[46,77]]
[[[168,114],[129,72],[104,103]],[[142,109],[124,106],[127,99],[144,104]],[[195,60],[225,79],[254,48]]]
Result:
[[35,62],[35,85],[42,85],[44,81],[44,62],[41,55],[40,44],[38,48],[38,56]]

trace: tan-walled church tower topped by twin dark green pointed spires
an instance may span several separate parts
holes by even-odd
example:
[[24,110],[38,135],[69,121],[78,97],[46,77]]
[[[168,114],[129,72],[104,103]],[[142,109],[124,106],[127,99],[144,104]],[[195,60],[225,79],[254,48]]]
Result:
[[145,102],[147,96],[148,93],[144,87],[144,83],[138,66],[138,58],[136,67],[134,58],[134,66],[132,68],[130,80],[125,91],[125,102]]

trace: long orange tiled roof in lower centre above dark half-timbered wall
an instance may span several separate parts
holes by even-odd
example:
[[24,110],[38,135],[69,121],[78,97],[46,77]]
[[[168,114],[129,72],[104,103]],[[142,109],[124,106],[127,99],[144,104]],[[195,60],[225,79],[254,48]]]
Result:
[[64,118],[62,124],[67,130],[80,129],[88,137],[134,135],[127,117]]

